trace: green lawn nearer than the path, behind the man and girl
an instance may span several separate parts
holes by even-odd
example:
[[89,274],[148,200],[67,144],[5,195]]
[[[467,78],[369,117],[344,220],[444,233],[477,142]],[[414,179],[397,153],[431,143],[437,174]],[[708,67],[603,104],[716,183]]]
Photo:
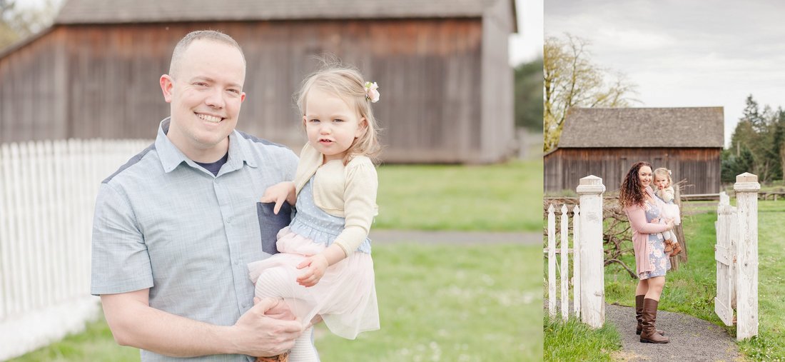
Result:
[[[382,329],[350,341],[319,326],[329,361],[542,359],[539,246],[374,246]],[[14,361],[138,360],[104,320]]]

